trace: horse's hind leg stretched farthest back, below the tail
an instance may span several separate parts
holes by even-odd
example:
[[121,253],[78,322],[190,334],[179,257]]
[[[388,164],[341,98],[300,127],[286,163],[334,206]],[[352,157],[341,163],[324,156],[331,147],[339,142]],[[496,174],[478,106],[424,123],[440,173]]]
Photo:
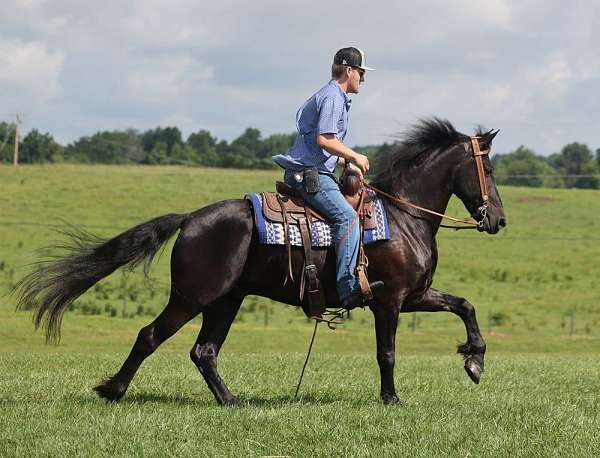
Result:
[[104,380],[94,390],[100,397],[109,401],[121,399],[142,362],[199,312],[198,307],[190,306],[176,291],[171,291],[169,303],[162,313],[140,330],[119,372]]

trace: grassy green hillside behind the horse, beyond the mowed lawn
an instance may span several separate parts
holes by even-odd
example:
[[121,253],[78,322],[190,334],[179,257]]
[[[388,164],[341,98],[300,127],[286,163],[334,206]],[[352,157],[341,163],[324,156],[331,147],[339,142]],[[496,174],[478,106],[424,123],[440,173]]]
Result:
[[[67,224],[112,236],[151,217],[187,212],[272,189],[275,171],[239,171],[144,166],[0,167],[0,307],[10,310],[8,287],[38,259],[34,251],[60,239],[53,229]],[[519,335],[600,336],[600,294],[594,269],[600,259],[597,191],[503,187],[508,227],[499,235],[443,230],[438,237],[439,289],[467,297],[487,331]],[[458,202],[450,214],[465,216]],[[80,313],[151,316],[162,307],[169,284],[170,246],[155,262],[151,278],[116,273],[85,294]],[[265,310],[266,309],[266,310]],[[269,326],[292,320],[297,311],[257,298],[247,299],[239,320]],[[369,313],[351,326],[371,326]],[[401,324],[412,326],[407,317]],[[420,314],[417,329],[460,329],[449,314]]]

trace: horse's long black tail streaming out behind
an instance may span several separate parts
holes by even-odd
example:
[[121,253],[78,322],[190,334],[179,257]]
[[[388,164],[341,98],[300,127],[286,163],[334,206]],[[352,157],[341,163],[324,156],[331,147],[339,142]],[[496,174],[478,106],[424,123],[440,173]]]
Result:
[[71,243],[46,250],[62,248],[66,256],[36,263],[33,272],[16,284],[13,292],[18,298],[17,309],[35,310],[35,328],[44,321],[46,341],[59,341],[63,314],[75,299],[119,267],[133,269],[144,262],[147,274],[158,249],[187,217],[187,214],[160,216],[110,240],[80,229],[63,231]]

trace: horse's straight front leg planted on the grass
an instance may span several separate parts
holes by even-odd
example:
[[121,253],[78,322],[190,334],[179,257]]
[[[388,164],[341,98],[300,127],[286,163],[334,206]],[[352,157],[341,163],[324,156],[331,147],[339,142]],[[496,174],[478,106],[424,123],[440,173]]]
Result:
[[375,317],[375,335],[377,337],[377,363],[381,373],[381,399],[385,404],[398,404],[394,387],[394,362],[396,359],[396,328],[398,327],[398,308],[375,305],[371,308]]

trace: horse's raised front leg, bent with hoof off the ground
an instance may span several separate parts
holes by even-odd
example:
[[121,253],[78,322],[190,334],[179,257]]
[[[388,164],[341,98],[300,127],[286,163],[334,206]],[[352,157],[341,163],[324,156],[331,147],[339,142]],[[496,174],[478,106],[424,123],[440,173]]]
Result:
[[473,304],[462,297],[429,288],[421,299],[402,306],[402,313],[407,312],[452,312],[458,315],[467,330],[467,342],[458,346],[458,353],[465,358],[465,371],[471,380],[479,383],[483,373],[485,341],[479,331]]

